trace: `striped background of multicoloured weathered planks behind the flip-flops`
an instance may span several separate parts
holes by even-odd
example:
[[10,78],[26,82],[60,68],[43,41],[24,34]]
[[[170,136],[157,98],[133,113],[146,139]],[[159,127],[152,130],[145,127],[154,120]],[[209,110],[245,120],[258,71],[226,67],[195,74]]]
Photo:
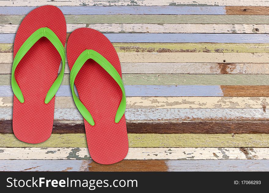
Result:
[[[68,65],[50,139],[13,135],[13,41],[43,5],[62,10],[68,36],[94,28],[115,46],[127,95],[125,160],[91,160]],[[0,171],[269,171],[268,105],[268,0],[0,1]]]

